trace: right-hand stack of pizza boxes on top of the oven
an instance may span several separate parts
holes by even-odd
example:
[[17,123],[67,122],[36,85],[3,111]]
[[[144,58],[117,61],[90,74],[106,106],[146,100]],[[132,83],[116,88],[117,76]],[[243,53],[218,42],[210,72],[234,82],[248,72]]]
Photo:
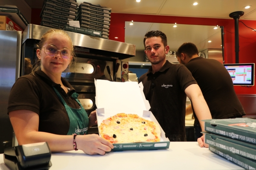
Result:
[[92,31],[99,31],[102,38],[109,39],[111,8],[93,5],[91,3],[81,3],[78,9],[76,20],[80,27]]

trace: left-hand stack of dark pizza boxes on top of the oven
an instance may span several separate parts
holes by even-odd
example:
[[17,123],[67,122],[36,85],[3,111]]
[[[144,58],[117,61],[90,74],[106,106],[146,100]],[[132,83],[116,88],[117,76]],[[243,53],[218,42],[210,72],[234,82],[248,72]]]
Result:
[[76,0],[44,0],[41,11],[41,26],[63,29],[69,21],[76,19],[78,3]]

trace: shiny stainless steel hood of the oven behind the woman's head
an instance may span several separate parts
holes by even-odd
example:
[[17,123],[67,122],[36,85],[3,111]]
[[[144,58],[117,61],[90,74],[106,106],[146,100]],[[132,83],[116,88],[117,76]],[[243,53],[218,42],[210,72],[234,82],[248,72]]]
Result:
[[[41,36],[49,29],[52,28],[29,24],[22,34],[22,44],[28,39],[41,40]],[[92,51],[96,50],[97,54],[102,56],[117,57],[118,59],[135,56],[135,45],[69,31],[66,32],[70,36],[73,45],[90,48]]]

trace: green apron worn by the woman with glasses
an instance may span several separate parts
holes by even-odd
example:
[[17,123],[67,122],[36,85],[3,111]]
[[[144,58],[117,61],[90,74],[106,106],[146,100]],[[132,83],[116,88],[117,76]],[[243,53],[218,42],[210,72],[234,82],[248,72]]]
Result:
[[72,97],[74,99],[76,99],[76,102],[79,103],[81,108],[74,109],[74,108],[71,108],[69,105],[67,105],[65,100],[61,97],[61,94],[59,94],[59,92],[55,88],[53,88],[53,89],[54,89],[55,93],[57,94],[58,98],[61,100],[61,102],[65,106],[67,115],[70,119],[70,128],[68,130],[67,135],[73,135],[74,133],[76,133],[77,135],[87,134],[88,126],[89,126],[89,118],[88,118],[88,115],[87,115],[86,111],[84,110],[83,106],[77,99],[78,94],[75,92],[72,94]]

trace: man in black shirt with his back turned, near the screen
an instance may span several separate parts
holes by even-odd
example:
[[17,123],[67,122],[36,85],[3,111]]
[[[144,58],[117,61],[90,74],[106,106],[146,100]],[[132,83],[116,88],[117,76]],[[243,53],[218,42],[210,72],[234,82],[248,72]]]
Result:
[[[236,96],[230,74],[223,64],[215,59],[198,57],[197,47],[190,42],[183,43],[176,54],[178,61],[189,69],[198,82],[212,119],[228,119],[245,115],[243,106]],[[197,116],[195,114],[194,116],[195,139],[198,139],[202,136],[201,127]]]

